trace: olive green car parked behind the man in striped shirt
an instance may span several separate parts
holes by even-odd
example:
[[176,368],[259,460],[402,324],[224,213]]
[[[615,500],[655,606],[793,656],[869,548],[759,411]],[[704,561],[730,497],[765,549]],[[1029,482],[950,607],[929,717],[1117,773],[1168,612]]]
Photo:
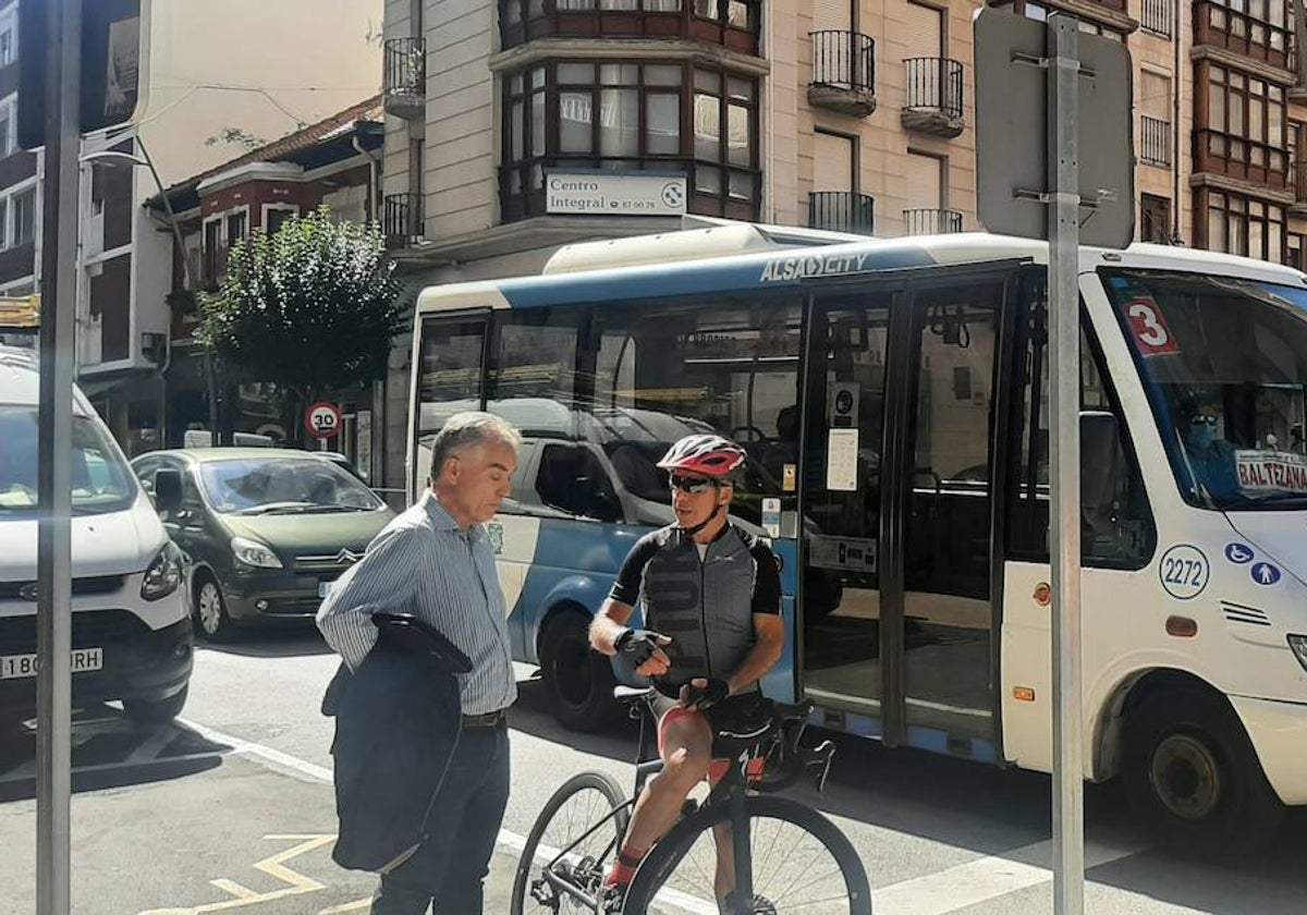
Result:
[[311,451],[152,451],[132,469],[153,494],[182,474],[180,507],[159,511],[193,562],[195,629],[213,640],[238,624],[310,618],[393,512],[358,477]]

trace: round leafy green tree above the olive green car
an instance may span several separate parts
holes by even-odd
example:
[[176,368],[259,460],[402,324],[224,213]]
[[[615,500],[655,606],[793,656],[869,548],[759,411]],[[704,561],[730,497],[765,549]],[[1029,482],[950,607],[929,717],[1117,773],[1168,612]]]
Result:
[[404,324],[400,289],[382,231],[336,221],[323,207],[231,247],[218,290],[200,297],[196,337],[299,401],[285,404],[293,418],[328,390],[384,376]]

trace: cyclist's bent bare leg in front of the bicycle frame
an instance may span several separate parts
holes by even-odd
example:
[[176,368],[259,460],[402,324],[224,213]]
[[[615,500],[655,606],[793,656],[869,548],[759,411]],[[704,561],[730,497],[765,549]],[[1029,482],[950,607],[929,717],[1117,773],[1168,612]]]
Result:
[[663,771],[640,793],[626,830],[626,847],[640,854],[676,825],[685,799],[708,776],[712,762],[707,719],[698,712],[669,716],[660,724]]

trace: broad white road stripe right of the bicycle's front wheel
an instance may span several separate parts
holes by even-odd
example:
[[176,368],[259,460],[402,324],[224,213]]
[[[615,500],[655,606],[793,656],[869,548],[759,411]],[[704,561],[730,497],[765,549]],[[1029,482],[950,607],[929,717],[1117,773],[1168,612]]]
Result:
[[[1142,846],[1085,842],[1085,868],[1128,857]],[[1031,861],[1051,861],[1052,842],[1014,848],[1002,856],[980,857],[872,891],[877,915],[945,915],[1009,893],[1038,886],[1053,872]]]

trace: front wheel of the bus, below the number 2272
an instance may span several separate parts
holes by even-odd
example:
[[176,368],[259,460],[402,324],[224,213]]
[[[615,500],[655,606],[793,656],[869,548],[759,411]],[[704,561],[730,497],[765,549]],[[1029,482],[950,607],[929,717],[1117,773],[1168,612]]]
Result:
[[1222,697],[1154,693],[1128,712],[1124,736],[1127,799],[1163,850],[1229,859],[1274,835],[1285,808]]

